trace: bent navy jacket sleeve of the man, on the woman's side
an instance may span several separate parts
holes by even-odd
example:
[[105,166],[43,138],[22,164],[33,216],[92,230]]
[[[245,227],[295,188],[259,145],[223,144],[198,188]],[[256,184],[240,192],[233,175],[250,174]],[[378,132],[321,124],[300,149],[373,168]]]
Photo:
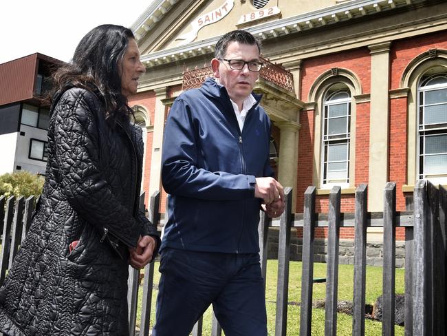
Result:
[[164,134],[162,182],[167,193],[206,200],[254,198],[254,176],[197,167],[199,149],[185,101],[174,102]]

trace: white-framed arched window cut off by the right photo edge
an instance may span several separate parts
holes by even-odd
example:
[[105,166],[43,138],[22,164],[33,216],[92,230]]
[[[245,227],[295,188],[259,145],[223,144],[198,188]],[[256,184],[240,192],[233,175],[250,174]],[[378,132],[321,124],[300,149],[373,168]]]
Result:
[[423,76],[418,86],[418,177],[447,182],[447,74]]

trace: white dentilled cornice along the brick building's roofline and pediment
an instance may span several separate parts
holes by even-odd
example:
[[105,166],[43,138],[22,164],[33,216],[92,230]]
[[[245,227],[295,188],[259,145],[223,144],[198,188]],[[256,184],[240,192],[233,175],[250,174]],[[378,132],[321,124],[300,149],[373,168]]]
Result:
[[[163,3],[171,3],[177,0],[157,0],[155,1],[159,6]],[[248,28],[247,31],[259,36],[261,39],[272,39],[286,34],[311,30],[321,27],[323,25],[330,25],[340,21],[349,21],[358,17],[392,10],[394,8],[402,8],[415,3],[422,3],[426,0],[353,0],[345,3],[339,3],[335,6],[296,15],[287,19],[276,20],[261,25],[255,25]],[[156,7],[153,3],[152,7]],[[149,12],[149,9],[146,12]],[[152,10],[156,12],[157,9]],[[151,13],[152,13],[151,12]],[[150,13],[149,13],[150,14]],[[146,17],[149,17],[149,14]],[[143,15],[140,17],[142,21]],[[136,24],[136,23],[135,23]],[[134,24],[134,25],[135,25]],[[135,27],[138,25],[135,25]],[[135,32],[135,30],[133,30]],[[136,36],[135,36],[136,37]],[[220,36],[211,37],[210,39],[188,43],[179,47],[160,50],[150,54],[143,55],[141,61],[146,67],[153,67],[155,65],[167,64],[182,59],[189,59],[201,54],[210,54],[214,52],[214,45],[217,43]]]

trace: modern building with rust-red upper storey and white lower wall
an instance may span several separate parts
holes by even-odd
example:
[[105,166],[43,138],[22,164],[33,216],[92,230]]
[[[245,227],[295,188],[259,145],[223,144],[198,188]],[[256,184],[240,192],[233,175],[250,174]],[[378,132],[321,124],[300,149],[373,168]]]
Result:
[[49,111],[42,98],[59,64],[38,53],[0,64],[0,174],[45,174]]

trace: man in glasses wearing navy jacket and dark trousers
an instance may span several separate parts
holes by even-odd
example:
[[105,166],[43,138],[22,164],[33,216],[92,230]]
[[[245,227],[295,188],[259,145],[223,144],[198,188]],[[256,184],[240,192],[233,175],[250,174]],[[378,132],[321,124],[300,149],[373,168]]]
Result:
[[212,304],[226,336],[266,336],[258,223],[284,210],[271,176],[270,119],[252,94],[262,63],[252,34],[219,39],[216,79],[181,94],[166,121],[162,182],[170,194],[153,336],[189,335]]

